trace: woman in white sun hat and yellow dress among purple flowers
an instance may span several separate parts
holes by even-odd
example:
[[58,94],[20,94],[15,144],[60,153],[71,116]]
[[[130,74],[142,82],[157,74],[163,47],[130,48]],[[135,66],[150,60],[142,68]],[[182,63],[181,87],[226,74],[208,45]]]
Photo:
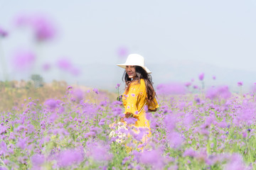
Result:
[[126,86],[122,96],[125,116],[122,120],[136,118],[133,124],[137,128],[136,132],[138,133],[142,128],[148,131],[142,137],[142,142],[146,142],[151,132],[149,120],[146,119],[145,107],[147,106],[149,111],[156,111],[159,108],[152,85],[151,72],[144,66],[144,57],[137,54],[129,55],[124,64],[117,64],[117,66],[125,69],[123,80]]

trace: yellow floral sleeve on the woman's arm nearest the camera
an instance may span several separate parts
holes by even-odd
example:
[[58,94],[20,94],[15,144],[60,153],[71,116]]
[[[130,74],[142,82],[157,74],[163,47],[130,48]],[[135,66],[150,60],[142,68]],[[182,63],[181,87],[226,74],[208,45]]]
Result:
[[124,113],[132,113],[136,117],[138,113],[137,101],[139,98],[139,87],[132,85],[127,94],[123,95]]

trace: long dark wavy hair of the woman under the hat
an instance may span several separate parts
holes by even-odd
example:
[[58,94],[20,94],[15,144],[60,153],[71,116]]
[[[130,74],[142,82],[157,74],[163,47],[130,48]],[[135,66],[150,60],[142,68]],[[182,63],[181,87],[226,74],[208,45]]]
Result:
[[137,77],[135,77],[133,80],[129,78],[126,71],[124,71],[124,74],[122,76],[122,80],[125,82],[125,91],[129,91],[129,86],[132,82],[137,81],[140,84],[140,79],[144,79],[145,85],[146,85],[146,101],[148,103],[154,103],[154,97],[156,96],[156,92],[154,91],[153,87],[153,81],[150,74],[148,74],[142,67],[135,66],[135,72],[137,74]]

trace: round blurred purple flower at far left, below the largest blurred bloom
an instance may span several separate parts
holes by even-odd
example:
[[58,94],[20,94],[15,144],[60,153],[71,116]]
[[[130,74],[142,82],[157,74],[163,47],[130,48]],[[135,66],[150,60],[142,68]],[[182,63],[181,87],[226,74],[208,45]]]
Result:
[[13,57],[13,66],[15,69],[23,70],[30,69],[36,61],[36,55],[33,52],[18,51]]

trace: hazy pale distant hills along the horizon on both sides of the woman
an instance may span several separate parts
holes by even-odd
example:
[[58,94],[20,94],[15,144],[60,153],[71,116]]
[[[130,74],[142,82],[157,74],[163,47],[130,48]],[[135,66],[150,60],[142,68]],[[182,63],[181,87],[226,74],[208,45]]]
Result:
[[[117,92],[117,89],[114,88],[116,84],[121,84],[120,91],[124,89],[124,83],[122,82],[124,69],[117,67],[115,64],[95,63],[78,65],[78,68],[81,69],[81,74],[78,77],[57,69],[50,70],[50,72],[42,73],[41,75],[46,82],[51,82],[53,79],[58,81],[64,79],[68,84],[78,84],[89,88],[107,89]],[[201,74],[201,72],[205,73],[204,83],[206,88],[225,84],[232,91],[238,91],[237,83],[242,81],[244,84],[242,89],[248,91],[256,82],[256,72],[216,67],[212,64],[201,62],[156,60],[155,63],[149,63],[146,66],[153,72],[151,75],[154,86],[171,81],[185,83],[191,81],[191,79],[194,79],[193,84],[200,86],[201,82],[198,80],[198,74]],[[213,80],[213,76],[216,77],[215,80]],[[26,77],[16,75],[11,77],[11,79],[26,80]]]

